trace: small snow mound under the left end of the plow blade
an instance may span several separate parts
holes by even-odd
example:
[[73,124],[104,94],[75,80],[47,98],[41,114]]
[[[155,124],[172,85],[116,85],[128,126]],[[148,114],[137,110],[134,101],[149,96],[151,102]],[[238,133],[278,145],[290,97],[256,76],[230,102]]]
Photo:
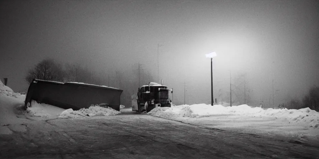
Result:
[[31,105],[27,103],[26,112],[30,116],[34,117],[49,117],[49,118],[56,118],[58,117],[65,109],[60,107],[55,107],[49,104],[44,103],[37,103],[36,101],[32,100]]

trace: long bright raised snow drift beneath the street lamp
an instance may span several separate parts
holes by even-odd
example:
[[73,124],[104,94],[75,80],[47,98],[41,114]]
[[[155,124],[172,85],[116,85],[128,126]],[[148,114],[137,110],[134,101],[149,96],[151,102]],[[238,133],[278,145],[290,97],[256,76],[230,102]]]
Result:
[[180,105],[172,107],[156,107],[148,114],[162,118],[189,117],[200,118],[213,115],[244,115],[251,117],[275,117],[276,119],[286,119],[289,122],[304,124],[308,127],[317,128],[319,126],[319,112],[310,108],[303,109],[272,109],[264,110],[260,107],[249,107],[240,105],[233,107],[224,107],[221,105]]

